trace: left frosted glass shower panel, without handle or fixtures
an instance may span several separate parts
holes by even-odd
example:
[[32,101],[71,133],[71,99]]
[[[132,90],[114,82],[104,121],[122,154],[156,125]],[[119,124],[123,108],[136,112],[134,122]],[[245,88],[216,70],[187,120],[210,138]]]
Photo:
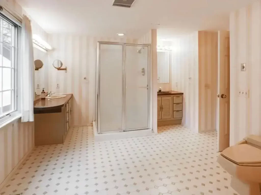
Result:
[[100,44],[98,132],[123,130],[122,48],[122,44]]

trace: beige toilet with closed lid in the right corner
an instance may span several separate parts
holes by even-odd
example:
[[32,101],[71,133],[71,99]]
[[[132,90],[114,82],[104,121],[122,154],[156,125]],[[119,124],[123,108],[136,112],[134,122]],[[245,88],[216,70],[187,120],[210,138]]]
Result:
[[221,152],[217,162],[232,175],[231,187],[240,195],[260,195],[261,136],[247,136]]

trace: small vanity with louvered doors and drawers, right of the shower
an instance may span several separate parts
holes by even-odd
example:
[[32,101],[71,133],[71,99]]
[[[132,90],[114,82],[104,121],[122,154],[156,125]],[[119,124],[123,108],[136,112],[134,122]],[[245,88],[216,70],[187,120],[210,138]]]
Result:
[[183,116],[183,93],[158,95],[158,126],[181,124]]

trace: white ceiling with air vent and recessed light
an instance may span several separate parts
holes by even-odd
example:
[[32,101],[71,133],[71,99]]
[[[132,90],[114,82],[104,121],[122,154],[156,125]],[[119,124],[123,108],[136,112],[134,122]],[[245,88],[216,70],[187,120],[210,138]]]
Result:
[[193,30],[229,29],[229,12],[255,0],[136,0],[131,8],[113,0],[17,0],[47,32],[139,38],[157,28],[161,37]]

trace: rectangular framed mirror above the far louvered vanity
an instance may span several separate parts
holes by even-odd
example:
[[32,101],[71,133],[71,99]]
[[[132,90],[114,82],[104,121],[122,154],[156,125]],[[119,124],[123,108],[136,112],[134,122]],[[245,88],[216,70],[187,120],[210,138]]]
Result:
[[169,83],[170,51],[157,50],[158,83]]

